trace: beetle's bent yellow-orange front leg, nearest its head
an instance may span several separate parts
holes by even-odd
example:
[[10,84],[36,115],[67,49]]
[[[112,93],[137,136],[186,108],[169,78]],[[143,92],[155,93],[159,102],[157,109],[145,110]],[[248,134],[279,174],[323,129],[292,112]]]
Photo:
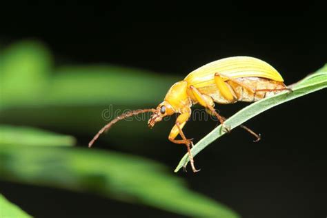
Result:
[[[185,126],[186,121],[188,121],[188,118],[190,118],[189,112],[185,112],[185,113],[179,115],[179,117],[177,117],[175,126],[173,126],[172,130],[170,130],[168,139],[170,141],[172,141],[173,143],[178,143],[178,144],[184,143],[186,145],[186,147],[188,148],[188,157],[190,157],[190,164],[191,164],[192,170],[193,170],[193,172],[198,172],[199,170],[197,170],[195,168],[193,155],[190,152],[190,146],[193,146],[192,139],[186,139],[184,132],[181,130]],[[181,135],[182,139],[175,139],[177,137],[177,135]],[[184,169],[185,168],[186,168],[186,166],[184,166]]]

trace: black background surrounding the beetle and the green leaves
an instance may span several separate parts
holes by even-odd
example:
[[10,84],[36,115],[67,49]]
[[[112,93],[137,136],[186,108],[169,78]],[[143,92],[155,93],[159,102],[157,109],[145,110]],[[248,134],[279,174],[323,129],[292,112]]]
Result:
[[[177,6],[161,2],[151,7],[26,3],[1,7],[0,39],[1,46],[20,39],[41,40],[54,52],[56,65],[115,63],[181,79],[210,61],[247,55],[273,65],[290,84],[327,62],[324,6],[315,2],[299,8],[284,6],[281,16],[275,8],[270,3],[248,8],[221,3]],[[264,112],[246,123],[263,135],[259,143],[236,129],[196,157],[201,172],[179,172],[179,176],[192,189],[244,217],[326,217],[326,127],[321,125],[326,123],[325,103],[326,90],[321,90]],[[230,116],[244,106],[217,107]],[[214,127],[214,122],[191,121],[186,134],[197,141]],[[90,137],[79,136],[79,142]],[[157,149],[134,153],[172,169],[184,153],[166,138],[143,140]],[[8,199],[39,217],[49,217],[49,211],[53,217],[106,217],[108,211],[113,217],[173,216],[93,195],[7,182],[0,185]],[[22,198],[21,193],[32,198]]]

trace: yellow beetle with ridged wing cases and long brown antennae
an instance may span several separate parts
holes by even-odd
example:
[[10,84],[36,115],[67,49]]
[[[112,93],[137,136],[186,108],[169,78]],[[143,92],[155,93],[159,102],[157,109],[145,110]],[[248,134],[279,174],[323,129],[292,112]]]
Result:
[[[135,110],[112,120],[95,135],[90,141],[89,147],[102,132],[125,117],[141,112],[152,112],[148,121],[148,126],[152,128],[164,117],[178,113],[179,117],[177,117],[175,126],[170,131],[168,139],[173,143],[187,146],[192,170],[197,172],[199,170],[195,168],[190,152],[190,146],[193,146],[192,141],[186,138],[182,130],[190,118],[192,105],[199,103],[204,106],[210,114],[215,115],[223,124],[225,118],[216,112],[215,102],[226,104],[237,101],[258,101],[275,95],[281,90],[289,89],[285,86],[284,79],[279,75],[279,72],[265,61],[254,57],[229,57],[213,61],[190,72],[184,80],[175,83],[168,90],[164,101],[159,103],[156,109]],[[255,135],[257,141],[260,139],[259,135],[246,126],[241,127]],[[226,130],[228,131],[228,128]],[[181,139],[175,139],[177,135],[180,135]]]

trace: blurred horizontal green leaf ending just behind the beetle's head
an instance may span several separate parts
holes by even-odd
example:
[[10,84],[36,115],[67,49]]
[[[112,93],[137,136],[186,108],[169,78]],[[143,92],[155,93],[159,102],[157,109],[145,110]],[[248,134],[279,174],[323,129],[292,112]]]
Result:
[[143,106],[161,101],[175,81],[176,77],[119,66],[66,66],[52,78],[48,103]]

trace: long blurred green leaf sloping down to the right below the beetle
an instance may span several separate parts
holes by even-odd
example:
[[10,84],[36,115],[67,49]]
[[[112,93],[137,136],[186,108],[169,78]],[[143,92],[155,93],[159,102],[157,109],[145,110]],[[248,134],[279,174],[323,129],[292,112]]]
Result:
[[192,217],[238,217],[154,161],[88,148],[0,144],[0,178],[92,192]]

